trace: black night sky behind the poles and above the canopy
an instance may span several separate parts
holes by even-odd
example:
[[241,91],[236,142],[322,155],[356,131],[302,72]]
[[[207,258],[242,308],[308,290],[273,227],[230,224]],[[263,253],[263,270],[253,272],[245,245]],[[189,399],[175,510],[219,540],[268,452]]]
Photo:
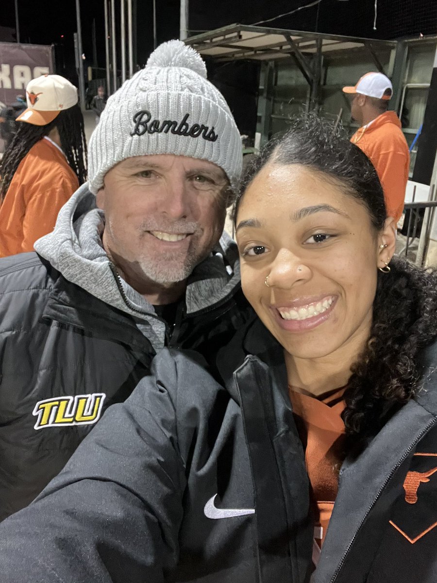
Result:
[[[269,19],[311,0],[189,0],[192,34],[232,23],[253,24]],[[377,30],[373,30],[374,0],[321,0],[318,6],[261,24],[291,30],[319,31],[369,38],[396,38],[437,31],[436,0],[378,0]],[[119,0],[116,0],[119,5]],[[75,0],[18,0],[22,42],[58,43],[58,72],[75,81],[73,32]],[[138,63],[145,64],[153,49],[153,0],[138,0]],[[179,33],[179,0],[156,0],[158,43]],[[104,67],[104,10],[102,0],[80,0],[85,65],[92,65],[91,27],[96,21],[97,61]],[[117,17],[119,23],[119,17]],[[15,27],[14,0],[2,0],[0,26]],[[61,38],[61,35],[64,38]]]

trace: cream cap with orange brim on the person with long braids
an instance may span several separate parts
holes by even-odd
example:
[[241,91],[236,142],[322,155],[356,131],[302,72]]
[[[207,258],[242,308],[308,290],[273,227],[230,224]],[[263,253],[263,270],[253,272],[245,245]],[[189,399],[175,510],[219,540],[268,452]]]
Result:
[[62,110],[76,105],[77,89],[61,75],[41,75],[26,87],[27,109],[16,121],[33,125],[47,125]]

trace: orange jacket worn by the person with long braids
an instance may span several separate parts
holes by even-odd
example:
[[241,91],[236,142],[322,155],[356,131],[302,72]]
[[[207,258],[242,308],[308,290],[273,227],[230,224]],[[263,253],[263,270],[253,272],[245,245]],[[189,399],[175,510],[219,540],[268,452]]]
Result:
[[41,139],[20,162],[0,207],[0,257],[33,251],[54,229],[59,209],[79,188],[61,150]]

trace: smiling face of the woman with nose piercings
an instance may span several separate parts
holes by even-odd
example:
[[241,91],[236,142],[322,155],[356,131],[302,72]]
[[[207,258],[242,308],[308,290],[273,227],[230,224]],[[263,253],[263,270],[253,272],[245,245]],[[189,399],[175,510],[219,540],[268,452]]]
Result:
[[268,163],[241,199],[236,237],[244,294],[288,354],[361,352],[376,268],[393,253],[391,227],[378,233],[365,206],[332,178]]

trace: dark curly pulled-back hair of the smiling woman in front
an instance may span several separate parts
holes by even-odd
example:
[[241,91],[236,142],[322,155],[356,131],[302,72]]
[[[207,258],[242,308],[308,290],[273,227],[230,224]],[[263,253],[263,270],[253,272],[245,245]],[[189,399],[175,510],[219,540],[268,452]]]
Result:
[[[246,169],[234,206],[267,163],[300,164],[358,199],[368,210],[375,237],[386,208],[378,174],[343,128],[316,115],[296,120],[274,136]],[[357,260],[359,260],[357,258]],[[351,447],[374,436],[396,410],[420,390],[418,353],[437,336],[437,273],[394,257],[391,272],[378,272],[368,343],[352,367],[343,420]],[[376,267],[375,267],[376,269]]]

